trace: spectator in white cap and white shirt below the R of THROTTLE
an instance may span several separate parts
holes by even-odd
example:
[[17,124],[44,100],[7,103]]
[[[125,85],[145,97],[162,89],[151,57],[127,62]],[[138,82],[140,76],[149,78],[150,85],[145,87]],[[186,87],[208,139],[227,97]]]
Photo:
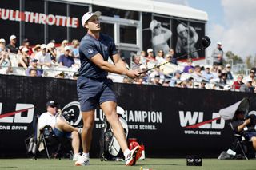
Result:
[[41,51],[38,52],[34,58],[38,60],[38,65],[44,68],[50,68],[51,67],[51,59],[50,59],[50,54],[46,53],[46,45],[42,44],[40,46]]

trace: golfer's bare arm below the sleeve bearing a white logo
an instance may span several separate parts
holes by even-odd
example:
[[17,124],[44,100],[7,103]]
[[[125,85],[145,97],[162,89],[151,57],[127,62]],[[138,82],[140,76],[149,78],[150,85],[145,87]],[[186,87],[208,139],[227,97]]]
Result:
[[128,72],[128,69],[126,69],[126,67],[118,66],[120,65],[120,61],[116,63],[117,65],[110,64],[108,61],[104,61],[102,55],[99,53],[94,55],[94,57],[91,57],[90,61],[92,61],[99,68],[104,69],[105,71],[110,73],[126,75],[126,73]]

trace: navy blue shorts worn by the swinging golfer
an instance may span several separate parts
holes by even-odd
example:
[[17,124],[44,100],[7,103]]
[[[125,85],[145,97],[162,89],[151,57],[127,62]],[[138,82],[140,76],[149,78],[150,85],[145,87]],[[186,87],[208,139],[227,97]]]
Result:
[[78,77],[77,90],[81,111],[96,109],[98,105],[106,101],[117,102],[112,84],[113,81],[107,78]]

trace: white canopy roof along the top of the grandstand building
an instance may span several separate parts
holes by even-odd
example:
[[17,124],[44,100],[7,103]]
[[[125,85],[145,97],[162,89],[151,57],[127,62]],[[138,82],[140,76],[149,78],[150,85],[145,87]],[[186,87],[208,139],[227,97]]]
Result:
[[97,6],[106,6],[110,8],[122,10],[134,10],[142,12],[150,12],[156,14],[165,14],[178,18],[191,18],[202,21],[208,20],[205,11],[196,10],[188,6],[172,4],[168,2],[157,2],[154,0],[63,0],[67,2],[79,2],[93,4]]

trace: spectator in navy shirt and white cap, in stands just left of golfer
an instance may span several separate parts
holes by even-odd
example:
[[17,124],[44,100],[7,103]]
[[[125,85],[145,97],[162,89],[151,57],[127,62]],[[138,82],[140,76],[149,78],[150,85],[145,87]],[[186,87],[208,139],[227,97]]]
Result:
[[64,54],[59,57],[58,63],[60,66],[71,67],[74,65],[74,58],[71,55],[70,46],[64,48]]

